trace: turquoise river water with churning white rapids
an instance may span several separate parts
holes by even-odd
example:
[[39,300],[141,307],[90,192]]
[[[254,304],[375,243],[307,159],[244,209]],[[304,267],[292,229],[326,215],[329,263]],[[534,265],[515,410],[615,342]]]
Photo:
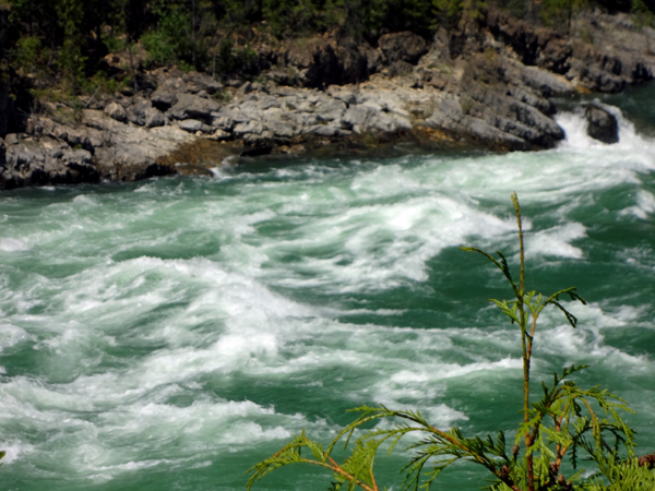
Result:
[[[614,99],[612,99],[614,101]],[[623,96],[620,142],[538,153],[246,163],[214,178],[0,194],[0,488],[243,489],[306,429],[327,442],[360,404],[467,434],[521,419],[500,273],[461,246],[517,244],[528,288],[576,286],[574,331],[547,312],[535,381],[588,363],[655,451],[655,139]],[[641,110],[641,112],[640,112]],[[640,116],[641,115],[641,116]],[[645,128],[645,127],[644,127]],[[378,481],[398,491],[401,454]],[[434,489],[475,490],[472,465]],[[297,467],[261,491],[326,489]]]

